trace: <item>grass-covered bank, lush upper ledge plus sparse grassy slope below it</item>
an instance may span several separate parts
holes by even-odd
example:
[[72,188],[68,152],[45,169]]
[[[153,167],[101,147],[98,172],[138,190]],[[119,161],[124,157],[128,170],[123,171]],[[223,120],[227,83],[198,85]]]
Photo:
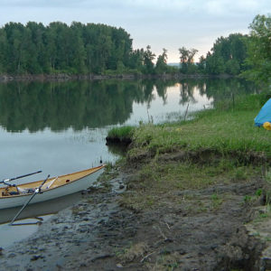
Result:
[[[259,178],[271,158],[270,131],[254,126],[265,100],[265,95],[255,95],[234,104],[224,101],[191,121],[127,129],[132,145],[126,168],[135,167],[136,173],[121,203],[137,211],[153,209],[178,204],[178,192],[189,191],[196,199],[196,190]],[[204,206],[201,201],[195,207],[193,201],[192,209],[210,210],[225,197],[215,192]]]

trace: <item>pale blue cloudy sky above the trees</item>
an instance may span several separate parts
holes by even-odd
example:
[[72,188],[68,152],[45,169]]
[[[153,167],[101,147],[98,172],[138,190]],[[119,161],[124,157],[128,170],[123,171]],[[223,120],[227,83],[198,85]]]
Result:
[[249,33],[257,14],[271,14],[271,0],[0,0],[0,26],[29,21],[105,23],[124,28],[133,49],[167,50],[179,62],[179,48],[197,49],[195,60],[230,33]]

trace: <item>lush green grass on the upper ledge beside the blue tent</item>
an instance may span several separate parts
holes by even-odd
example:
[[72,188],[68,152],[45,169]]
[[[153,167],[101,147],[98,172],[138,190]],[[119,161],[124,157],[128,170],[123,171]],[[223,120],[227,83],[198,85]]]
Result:
[[192,121],[139,126],[133,137],[136,148],[130,155],[136,155],[140,148],[153,154],[182,148],[186,151],[208,149],[222,155],[265,153],[270,158],[271,133],[254,126],[261,99],[248,96],[239,103],[237,100],[235,107],[225,104],[227,109],[201,111]]

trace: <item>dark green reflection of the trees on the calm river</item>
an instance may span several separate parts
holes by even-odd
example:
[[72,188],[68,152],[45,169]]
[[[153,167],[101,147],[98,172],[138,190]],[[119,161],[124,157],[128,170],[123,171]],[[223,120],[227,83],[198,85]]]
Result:
[[[49,127],[80,131],[124,124],[133,105],[150,108],[156,95],[168,103],[168,89],[179,88],[179,105],[196,103],[196,93],[216,102],[233,93],[251,93],[239,79],[103,80],[69,82],[10,82],[0,84],[0,125],[9,132],[31,132]],[[156,94],[156,95],[155,95]]]

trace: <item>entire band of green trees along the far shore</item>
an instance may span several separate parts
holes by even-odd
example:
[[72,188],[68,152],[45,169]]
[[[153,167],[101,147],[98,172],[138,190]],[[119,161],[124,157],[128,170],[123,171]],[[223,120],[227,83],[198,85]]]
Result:
[[221,36],[198,62],[198,50],[182,46],[179,67],[171,67],[166,49],[158,56],[150,45],[134,50],[130,34],[122,28],[78,22],[6,23],[0,28],[0,74],[241,74],[268,84],[271,16],[257,15],[249,29],[248,35]]

